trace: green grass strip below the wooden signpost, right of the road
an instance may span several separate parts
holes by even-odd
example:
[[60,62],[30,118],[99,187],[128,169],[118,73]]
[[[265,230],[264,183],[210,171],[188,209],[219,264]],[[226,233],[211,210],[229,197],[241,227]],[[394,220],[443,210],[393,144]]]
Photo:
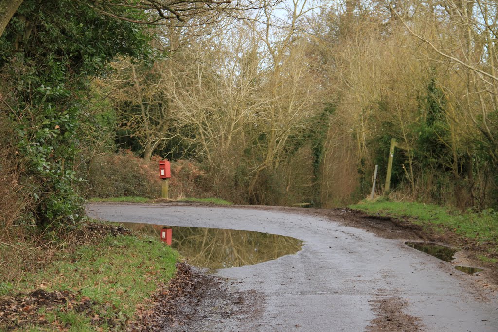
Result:
[[498,213],[493,210],[460,213],[449,207],[433,204],[389,201],[364,201],[349,206],[368,214],[394,218],[406,217],[429,231],[452,231],[478,244],[496,244],[498,247]]

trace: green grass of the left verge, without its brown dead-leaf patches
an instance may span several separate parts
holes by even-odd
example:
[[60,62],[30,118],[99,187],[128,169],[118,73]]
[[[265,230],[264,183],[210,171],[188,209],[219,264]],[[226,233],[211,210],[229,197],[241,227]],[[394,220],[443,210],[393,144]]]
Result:
[[[120,331],[133,317],[138,304],[143,304],[161,282],[167,283],[175,272],[178,253],[155,236],[108,236],[96,245],[81,246],[73,254],[60,258],[43,271],[28,274],[17,292],[35,289],[69,290],[76,300],[94,301],[95,314],[102,318],[100,328],[113,330],[109,321],[117,322]],[[95,322],[75,309],[41,308],[49,323],[56,321],[69,331],[95,331]],[[0,331],[1,331],[0,326]],[[43,326],[30,327],[38,331]]]

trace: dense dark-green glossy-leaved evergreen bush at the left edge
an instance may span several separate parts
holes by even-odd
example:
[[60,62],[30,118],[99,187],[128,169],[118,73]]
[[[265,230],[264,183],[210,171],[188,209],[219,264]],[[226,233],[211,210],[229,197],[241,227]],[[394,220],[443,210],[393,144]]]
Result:
[[13,127],[15,155],[4,158],[22,160],[20,200],[31,203],[25,218],[46,226],[81,217],[74,160],[84,140],[78,128],[88,121],[89,83],[118,55],[149,54],[147,38],[135,24],[100,14],[88,1],[22,2],[0,38],[0,120]]

